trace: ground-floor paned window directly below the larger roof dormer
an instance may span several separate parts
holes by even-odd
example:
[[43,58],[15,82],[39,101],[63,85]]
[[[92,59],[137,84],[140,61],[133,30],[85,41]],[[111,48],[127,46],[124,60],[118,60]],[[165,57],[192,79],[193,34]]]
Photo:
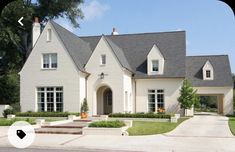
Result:
[[148,111],[155,112],[159,108],[164,108],[164,90],[148,90]]

